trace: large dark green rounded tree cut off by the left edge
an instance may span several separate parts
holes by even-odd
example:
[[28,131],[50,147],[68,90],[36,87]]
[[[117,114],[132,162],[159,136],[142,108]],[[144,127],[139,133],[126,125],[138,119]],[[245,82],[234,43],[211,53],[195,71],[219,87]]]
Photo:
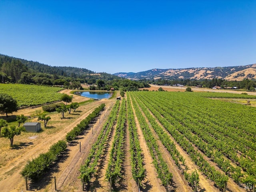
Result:
[[0,113],[6,114],[6,117],[8,117],[8,113],[12,113],[14,111],[17,111],[18,104],[17,101],[12,98],[12,96],[0,93]]

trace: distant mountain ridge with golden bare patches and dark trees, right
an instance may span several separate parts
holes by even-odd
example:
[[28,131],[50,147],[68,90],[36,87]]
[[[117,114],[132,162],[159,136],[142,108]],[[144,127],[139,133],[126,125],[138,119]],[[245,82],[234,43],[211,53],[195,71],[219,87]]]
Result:
[[229,67],[214,67],[214,68],[185,68],[185,69],[152,69],[138,73],[115,73],[114,75],[131,79],[213,79],[221,78],[225,80],[241,81],[244,78],[256,78],[256,64],[246,66],[229,66]]

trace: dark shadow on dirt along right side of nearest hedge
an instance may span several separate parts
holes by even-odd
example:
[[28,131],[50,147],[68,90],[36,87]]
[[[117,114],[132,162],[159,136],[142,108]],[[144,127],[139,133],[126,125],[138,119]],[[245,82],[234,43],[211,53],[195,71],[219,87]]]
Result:
[[59,172],[60,166],[59,163],[66,161],[69,157],[69,149],[66,149],[62,152],[61,156],[59,156],[58,160],[46,171],[47,173],[42,176],[42,179],[37,180],[35,182],[29,183],[29,190],[30,191],[37,191],[44,189],[49,183],[52,182],[53,174]]

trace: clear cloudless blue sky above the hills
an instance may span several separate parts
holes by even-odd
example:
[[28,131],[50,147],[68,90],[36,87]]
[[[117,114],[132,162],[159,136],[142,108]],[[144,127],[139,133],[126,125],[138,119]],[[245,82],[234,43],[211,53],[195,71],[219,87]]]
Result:
[[256,0],[0,0],[0,53],[95,72],[256,63]]

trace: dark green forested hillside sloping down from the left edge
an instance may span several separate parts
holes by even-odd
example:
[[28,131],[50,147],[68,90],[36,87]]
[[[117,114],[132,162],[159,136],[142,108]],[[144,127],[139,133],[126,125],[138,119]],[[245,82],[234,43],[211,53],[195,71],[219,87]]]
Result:
[[81,84],[89,84],[91,89],[120,90],[122,88],[124,91],[148,87],[145,82],[131,81],[112,74],[94,73],[85,68],[48,66],[3,54],[0,54],[0,81],[76,89],[82,89]]

